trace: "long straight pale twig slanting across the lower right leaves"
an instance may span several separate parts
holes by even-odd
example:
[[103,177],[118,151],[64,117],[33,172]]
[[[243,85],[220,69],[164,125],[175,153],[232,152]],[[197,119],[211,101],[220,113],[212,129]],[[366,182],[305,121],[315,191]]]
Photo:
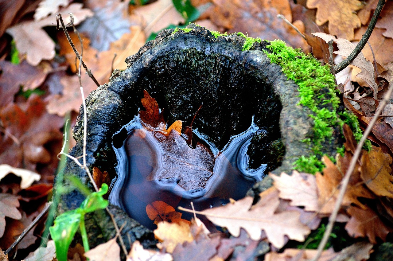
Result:
[[349,183],[349,178],[351,177],[351,174],[353,173],[353,170],[356,165],[356,161],[358,160],[358,158],[360,156],[360,152],[362,151],[363,143],[365,142],[365,140],[367,140],[367,136],[370,134],[371,129],[373,129],[373,126],[374,126],[376,120],[378,119],[378,116],[380,116],[380,114],[382,113],[382,110],[384,110],[386,104],[389,102],[389,99],[390,99],[390,96],[392,95],[392,93],[393,93],[393,83],[390,83],[389,90],[384,95],[384,99],[382,100],[382,103],[380,103],[375,116],[373,117],[373,119],[371,120],[369,125],[367,126],[367,129],[364,131],[362,139],[360,140],[358,146],[356,147],[356,151],[353,154],[353,158],[349,164],[347,172],[345,173],[345,176],[344,176],[343,180],[341,181],[340,193],[338,194],[336,205],[334,206],[334,210],[333,210],[331,216],[329,217],[329,223],[327,224],[327,227],[326,227],[325,233],[323,234],[323,238],[321,240],[321,243],[318,246],[318,252],[314,256],[312,261],[317,261],[320,258],[323,249],[325,248],[325,245],[327,243],[327,240],[329,239],[330,233],[332,232],[334,222],[336,221],[338,211],[341,208],[341,203],[344,198],[345,190],[347,189],[347,186]]

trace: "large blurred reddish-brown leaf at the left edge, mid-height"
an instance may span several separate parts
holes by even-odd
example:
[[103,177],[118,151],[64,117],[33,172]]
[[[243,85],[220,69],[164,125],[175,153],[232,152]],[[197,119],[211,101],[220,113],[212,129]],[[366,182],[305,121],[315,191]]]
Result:
[[14,140],[0,136],[0,164],[31,171],[42,164],[41,175],[53,175],[59,162],[56,155],[62,145],[60,128],[64,120],[48,114],[45,105],[32,94],[26,102],[10,103],[0,111],[4,129],[14,136]]

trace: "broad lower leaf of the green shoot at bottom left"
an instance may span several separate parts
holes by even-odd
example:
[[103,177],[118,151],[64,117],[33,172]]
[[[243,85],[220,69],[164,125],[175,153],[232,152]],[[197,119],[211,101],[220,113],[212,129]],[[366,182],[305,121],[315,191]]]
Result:
[[57,260],[67,261],[68,248],[82,218],[80,209],[67,211],[59,215],[53,222],[53,226],[49,228],[50,235],[55,241]]

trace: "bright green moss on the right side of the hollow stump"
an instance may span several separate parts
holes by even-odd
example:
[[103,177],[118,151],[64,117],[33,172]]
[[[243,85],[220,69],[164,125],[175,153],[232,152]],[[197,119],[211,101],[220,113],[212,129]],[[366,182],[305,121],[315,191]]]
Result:
[[[347,123],[354,132],[356,140],[362,137],[356,116],[347,112],[338,114],[340,100],[337,97],[334,76],[330,73],[328,65],[321,66],[320,62],[300,50],[286,46],[282,40],[269,42],[264,52],[270,61],[281,66],[288,79],[293,80],[299,86],[299,104],[308,107],[313,114],[314,135],[304,140],[312,146],[314,155],[302,156],[294,163],[294,169],[307,173],[322,171],[324,165],[320,161],[323,154],[323,144],[332,142],[334,127]],[[340,118],[342,116],[342,118]],[[368,143],[366,147],[369,147]],[[340,151],[340,148],[338,148]]]

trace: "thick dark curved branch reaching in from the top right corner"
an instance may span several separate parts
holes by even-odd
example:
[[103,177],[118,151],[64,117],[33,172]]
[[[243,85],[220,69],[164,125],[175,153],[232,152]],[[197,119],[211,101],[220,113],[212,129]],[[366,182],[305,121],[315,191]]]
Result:
[[360,39],[360,42],[356,45],[356,47],[353,49],[353,51],[348,55],[347,58],[345,58],[343,61],[341,61],[339,64],[333,67],[333,72],[334,74],[337,74],[338,72],[341,72],[344,68],[346,68],[353,60],[358,56],[358,54],[363,50],[365,44],[367,43],[368,39],[371,36],[371,33],[374,30],[376,20],[378,20],[378,17],[382,11],[382,7],[385,5],[385,0],[379,0],[377,6],[375,7],[374,15],[371,18],[370,24],[367,27],[367,30],[365,31],[362,39]]

